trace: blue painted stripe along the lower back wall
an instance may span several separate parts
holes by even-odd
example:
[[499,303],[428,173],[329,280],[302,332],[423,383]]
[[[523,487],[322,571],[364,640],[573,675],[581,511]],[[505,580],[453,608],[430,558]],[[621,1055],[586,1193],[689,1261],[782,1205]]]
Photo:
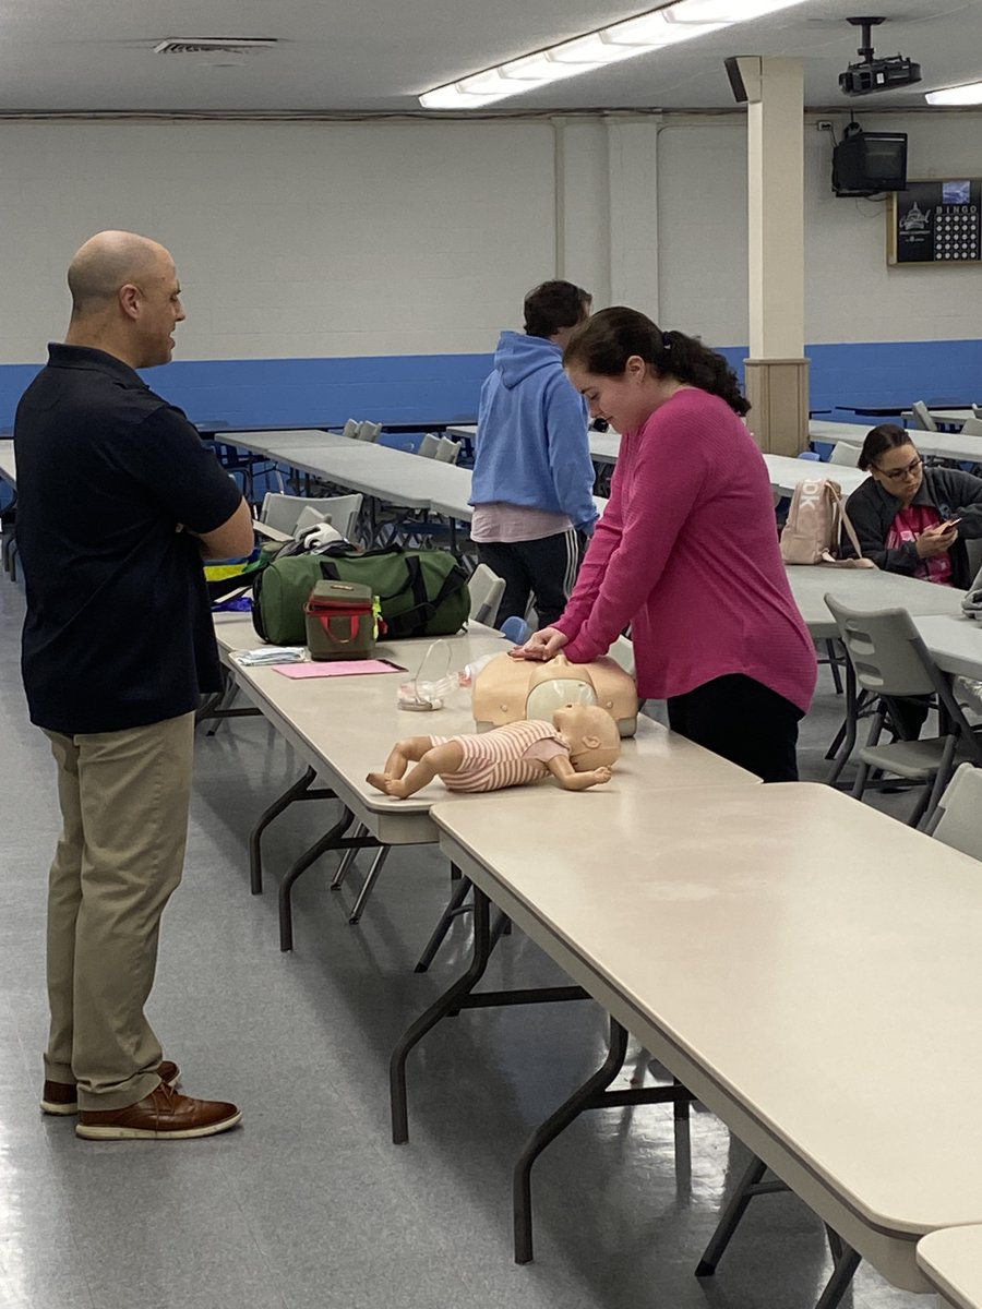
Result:
[[[738,376],[746,347],[721,347]],[[982,401],[982,340],[809,346],[812,408],[953,395]],[[0,365],[0,428],[13,423],[34,364]],[[149,369],[155,390],[198,420],[299,427],[376,418],[424,424],[477,412],[490,355],[175,361]]]

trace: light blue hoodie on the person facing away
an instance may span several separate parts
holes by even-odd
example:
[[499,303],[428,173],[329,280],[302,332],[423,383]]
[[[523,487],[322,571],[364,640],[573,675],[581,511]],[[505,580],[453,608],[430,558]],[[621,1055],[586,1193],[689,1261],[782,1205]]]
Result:
[[481,389],[471,504],[517,504],[564,513],[592,533],[593,465],[587,402],[543,336],[501,332],[495,370]]

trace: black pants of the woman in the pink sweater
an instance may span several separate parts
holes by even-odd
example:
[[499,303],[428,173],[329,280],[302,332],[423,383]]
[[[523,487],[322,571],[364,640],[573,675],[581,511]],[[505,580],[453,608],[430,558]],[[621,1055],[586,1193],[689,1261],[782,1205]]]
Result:
[[796,704],[742,673],[727,673],[668,699],[673,732],[765,781],[797,781],[801,717]]

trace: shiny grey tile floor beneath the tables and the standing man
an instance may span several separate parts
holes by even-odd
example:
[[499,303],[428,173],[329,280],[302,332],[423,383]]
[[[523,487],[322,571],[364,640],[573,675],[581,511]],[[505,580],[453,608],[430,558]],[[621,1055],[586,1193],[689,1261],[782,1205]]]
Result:
[[[296,890],[296,949],[278,949],[275,870],[327,805],[268,838],[250,897],[245,836],[297,774],[262,720],[198,742],[185,884],[165,916],[152,1017],[191,1093],[228,1097],[241,1130],[202,1141],[86,1143],[43,1118],[45,876],[52,766],[26,721],[22,592],[0,580],[0,1309],[810,1309],[829,1272],[821,1224],[793,1196],[755,1200],[716,1276],[693,1268],[745,1152],[695,1109],[584,1115],[534,1177],[536,1262],[511,1258],[509,1177],[530,1128],[596,1067],[594,1004],[478,1011],[439,1026],[410,1071],[411,1141],[389,1141],[388,1055],[460,970],[466,920],[412,974],[446,894],[431,848],[390,857],[361,925],[333,864]],[[803,732],[821,778],[827,686]],[[906,797],[889,797],[903,804]],[[327,861],[325,861],[327,863]],[[352,878],[352,881],[356,881]],[[490,984],[560,982],[518,933]],[[647,1077],[643,1051],[627,1071]],[[854,1309],[928,1306],[862,1267]]]

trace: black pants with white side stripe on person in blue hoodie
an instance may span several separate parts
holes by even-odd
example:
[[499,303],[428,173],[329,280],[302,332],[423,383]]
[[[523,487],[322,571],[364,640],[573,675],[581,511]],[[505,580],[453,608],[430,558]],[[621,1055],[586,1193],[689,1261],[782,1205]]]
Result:
[[585,537],[572,528],[538,541],[478,542],[481,563],[504,579],[498,626],[516,614],[525,618],[533,594],[538,626],[554,623],[573,589],[584,547]]

